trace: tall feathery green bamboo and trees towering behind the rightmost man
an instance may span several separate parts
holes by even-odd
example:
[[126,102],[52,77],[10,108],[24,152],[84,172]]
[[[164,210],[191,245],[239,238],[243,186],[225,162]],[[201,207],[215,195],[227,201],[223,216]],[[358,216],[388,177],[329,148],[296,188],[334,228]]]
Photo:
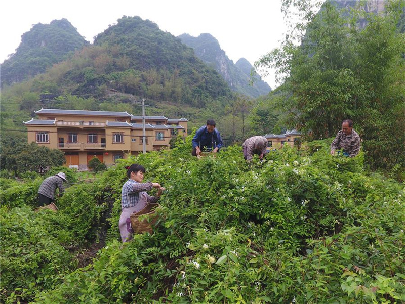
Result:
[[307,24],[297,28],[305,35],[288,35],[257,62],[274,65],[284,77],[274,103],[285,113],[284,124],[313,140],[335,136],[350,118],[372,167],[405,167],[405,35],[398,29],[405,2],[386,2],[384,14],[339,10],[329,1],[314,14],[309,3],[298,6]]

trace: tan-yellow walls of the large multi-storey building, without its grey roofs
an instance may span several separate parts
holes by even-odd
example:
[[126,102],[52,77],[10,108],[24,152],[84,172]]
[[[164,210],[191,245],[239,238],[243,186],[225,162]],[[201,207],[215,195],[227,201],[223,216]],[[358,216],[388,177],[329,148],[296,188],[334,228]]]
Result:
[[[41,114],[38,113],[41,120],[55,120],[55,125],[33,125],[26,124],[28,130],[28,142],[36,142],[36,132],[49,132],[49,143],[38,143],[50,149],[60,149],[65,153],[69,163],[78,167],[79,170],[88,169],[88,161],[96,155],[107,166],[114,164],[114,159],[119,157],[128,158],[129,155],[142,153],[142,128],[132,128],[131,126],[107,126],[107,120],[130,122],[131,116],[92,116],[92,115],[66,115],[66,114]],[[146,120],[146,123],[155,124],[154,120]],[[160,124],[166,123],[159,121]],[[179,121],[179,125],[187,128],[187,121]],[[179,129],[179,134],[187,136],[187,132]],[[124,139],[123,143],[113,142],[113,134],[121,133]],[[157,136],[161,133],[160,136]],[[69,143],[74,138],[77,141]],[[89,134],[96,134],[96,142],[89,142]],[[169,142],[173,138],[171,129],[166,127],[146,128],[147,144],[146,151],[169,148]],[[163,138],[161,138],[163,136]],[[160,137],[160,138],[159,138]],[[63,141],[61,140],[63,139]],[[102,142],[105,139],[105,143]],[[132,141],[135,139],[135,141]],[[92,138],[94,140],[94,138]],[[63,142],[63,144],[62,144]]]

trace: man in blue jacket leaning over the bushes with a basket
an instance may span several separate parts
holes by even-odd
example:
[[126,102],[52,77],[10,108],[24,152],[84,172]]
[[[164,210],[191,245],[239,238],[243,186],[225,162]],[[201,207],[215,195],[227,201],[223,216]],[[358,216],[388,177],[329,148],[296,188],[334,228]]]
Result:
[[215,127],[215,121],[207,120],[207,125],[201,126],[196,132],[192,140],[193,151],[192,156],[198,156],[201,151],[213,153],[218,152],[224,145],[221,135]]

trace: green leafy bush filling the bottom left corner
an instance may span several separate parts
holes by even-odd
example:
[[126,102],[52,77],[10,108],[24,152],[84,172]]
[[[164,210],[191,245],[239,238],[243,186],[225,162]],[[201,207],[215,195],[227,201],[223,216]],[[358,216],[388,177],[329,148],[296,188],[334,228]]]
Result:
[[27,206],[0,210],[0,299],[24,302],[40,290],[52,289],[63,273],[74,268],[75,260],[61,245],[69,236],[56,231],[52,211],[35,213]]

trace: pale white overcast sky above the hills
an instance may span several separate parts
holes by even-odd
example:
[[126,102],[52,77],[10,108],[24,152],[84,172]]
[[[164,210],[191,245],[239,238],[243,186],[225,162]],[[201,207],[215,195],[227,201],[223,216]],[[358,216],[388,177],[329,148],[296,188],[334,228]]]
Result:
[[[122,16],[139,16],[175,36],[210,33],[235,63],[246,58],[252,65],[280,45],[285,22],[281,0],[116,0],[116,1],[21,1],[3,2],[0,30],[0,62],[15,52],[21,35],[37,23],[66,18],[86,40],[116,23]],[[274,75],[264,79],[275,88]]]

